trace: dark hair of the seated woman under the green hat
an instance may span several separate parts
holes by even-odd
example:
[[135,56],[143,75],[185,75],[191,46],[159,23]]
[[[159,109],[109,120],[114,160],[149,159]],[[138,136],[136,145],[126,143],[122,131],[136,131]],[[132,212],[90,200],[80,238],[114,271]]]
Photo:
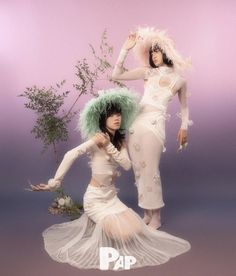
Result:
[[113,136],[112,133],[106,128],[106,120],[108,117],[110,117],[113,114],[121,114],[121,108],[118,104],[109,104],[107,105],[107,108],[105,112],[100,114],[99,118],[99,128],[103,133],[108,133],[110,136],[111,143],[118,149],[120,150],[122,147],[122,144],[125,139],[125,134],[122,133],[122,129],[119,129],[115,132],[115,135]]

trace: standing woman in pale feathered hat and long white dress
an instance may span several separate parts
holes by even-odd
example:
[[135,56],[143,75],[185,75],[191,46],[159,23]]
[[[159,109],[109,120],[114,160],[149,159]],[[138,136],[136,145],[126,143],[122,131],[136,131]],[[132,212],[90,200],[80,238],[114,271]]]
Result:
[[[142,65],[127,71],[123,63],[132,48]],[[187,146],[187,128],[192,124],[183,77],[189,65],[164,31],[139,28],[125,41],[112,74],[113,80],[144,80],[140,111],[129,129],[128,148],[138,188],[138,205],[144,209],[144,222],[155,229],[161,226],[160,210],[164,206],[159,162],[165,151],[166,111],[174,96],[178,95],[181,108],[179,149]]]

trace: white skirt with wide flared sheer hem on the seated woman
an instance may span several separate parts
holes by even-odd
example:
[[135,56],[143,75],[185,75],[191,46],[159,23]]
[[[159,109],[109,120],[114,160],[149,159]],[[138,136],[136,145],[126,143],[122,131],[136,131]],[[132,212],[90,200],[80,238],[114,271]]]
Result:
[[[112,247],[122,256],[135,257],[131,268],[137,268],[165,263],[190,248],[187,241],[144,224],[118,199],[114,186],[89,185],[84,209],[79,219],[52,225],[43,232],[45,249],[55,261],[99,269],[100,247]],[[109,269],[113,267],[111,263]]]

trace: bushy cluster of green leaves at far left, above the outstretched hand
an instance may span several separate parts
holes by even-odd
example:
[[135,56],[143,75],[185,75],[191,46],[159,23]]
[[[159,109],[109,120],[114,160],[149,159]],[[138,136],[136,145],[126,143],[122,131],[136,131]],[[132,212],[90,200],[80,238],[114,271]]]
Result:
[[27,102],[24,106],[33,110],[37,114],[36,123],[31,130],[36,139],[41,139],[44,144],[44,150],[49,145],[55,145],[60,141],[68,139],[68,123],[76,115],[76,112],[66,113],[62,110],[65,98],[69,95],[69,91],[61,94],[58,90],[62,88],[65,80],[60,84],[56,84],[57,88],[37,86],[27,87],[20,97],[25,97]]

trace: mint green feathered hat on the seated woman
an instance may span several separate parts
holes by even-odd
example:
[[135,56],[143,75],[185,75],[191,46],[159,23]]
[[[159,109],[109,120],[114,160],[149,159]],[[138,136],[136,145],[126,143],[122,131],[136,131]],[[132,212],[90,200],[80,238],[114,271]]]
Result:
[[126,131],[133,122],[138,112],[139,97],[127,88],[112,88],[100,90],[99,96],[86,103],[80,113],[77,130],[81,131],[83,139],[90,138],[96,132],[101,132],[99,128],[100,115],[106,112],[109,105],[118,105],[121,108],[120,130]]

